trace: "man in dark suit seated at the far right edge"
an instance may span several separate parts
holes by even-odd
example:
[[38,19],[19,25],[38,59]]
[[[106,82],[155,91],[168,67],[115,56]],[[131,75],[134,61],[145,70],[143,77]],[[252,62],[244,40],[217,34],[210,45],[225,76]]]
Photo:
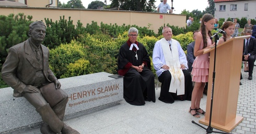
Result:
[[[247,29],[245,31],[245,35],[251,35],[252,31],[250,29]],[[253,66],[255,61],[255,54],[256,54],[256,39],[252,37],[248,37],[243,42],[243,61],[248,61],[248,69],[249,69],[249,77],[248,79],[252,79],[252,72],[253,72]]]

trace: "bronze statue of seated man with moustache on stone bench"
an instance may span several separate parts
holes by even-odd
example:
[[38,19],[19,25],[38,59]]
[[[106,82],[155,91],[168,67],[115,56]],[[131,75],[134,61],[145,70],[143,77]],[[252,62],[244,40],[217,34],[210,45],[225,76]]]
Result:
[[[68,96],[60,89],[61,83],[49,68],[49,49],[41,44],[45,30],[46,27],[41,21],[29,25],[29,38],[9,48],[2,68],[2,78],[14,89],[14,97],[24,97],[36,108],[43,120],[40,128],[42,133],[79,133],[62,121]],[[60,90],[63,96],[54,105],[40,91],[40,88],[51,83],[54,83],[51,89]]]

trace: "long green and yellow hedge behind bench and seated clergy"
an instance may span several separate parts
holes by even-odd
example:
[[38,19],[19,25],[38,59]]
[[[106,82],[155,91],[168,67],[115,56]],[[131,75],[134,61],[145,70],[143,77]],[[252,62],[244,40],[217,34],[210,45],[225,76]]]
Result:
[[[26,17],[23,14],[0,16],[0,69],[7,57],[8,48],[28,38],[31,19],[31,16]],[[70,17],[65,20],[64,16],[60,17],[59,21],[45,19],[45,22],[46,36],[42,44],[50,49],[50,68],[57,78],[97,72],[117,74],[119,48],[127,41],[127,31],[132,26],[138,29],[137,41],[145,45],[150,58],[155,43],[163,37],[161,33],[163,26],[159,28],[158,34],[155,34],[146,27],[141,28],[136,25],[118,26],[101,22],[98,26],[97,22],[92,21],[84,27],[80,21],[74,25]],[[187,45],[193,42],[192,32],[188,31],[197,29],[198,26],[198,23],[192,24],[189,28],[170,26],[174,34],[173,38],[180,42],[184,51],[187,50]],[[153,65],[152,71],[155,72]],[[1,78],[0,84],[7,86]]]

